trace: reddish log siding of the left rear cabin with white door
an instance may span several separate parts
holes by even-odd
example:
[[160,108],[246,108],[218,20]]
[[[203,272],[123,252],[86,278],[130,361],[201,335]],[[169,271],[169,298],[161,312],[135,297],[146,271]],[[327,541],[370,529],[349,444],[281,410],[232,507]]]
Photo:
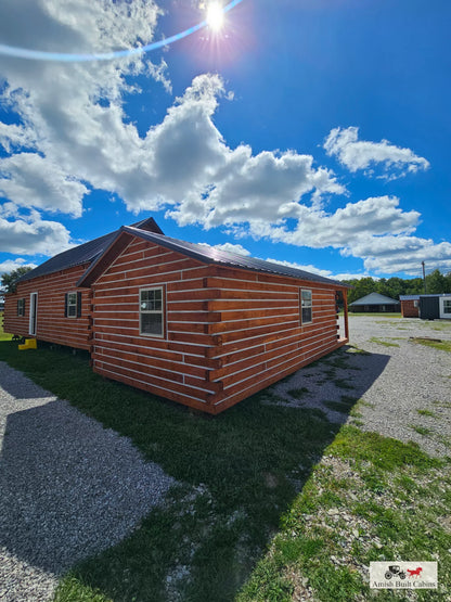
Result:
[[[38,338],[78,349],[90,349],[91,292],[76,289],[88,264],[41,276],[17,284],[17,291],[5,295],[4,332]],[[81,293],[81,316],[65,317],[65,295]],[[30,293],[38,293],[36,335],[29,333]],[[25,316],[17,316],[17,299],[25,298]]]

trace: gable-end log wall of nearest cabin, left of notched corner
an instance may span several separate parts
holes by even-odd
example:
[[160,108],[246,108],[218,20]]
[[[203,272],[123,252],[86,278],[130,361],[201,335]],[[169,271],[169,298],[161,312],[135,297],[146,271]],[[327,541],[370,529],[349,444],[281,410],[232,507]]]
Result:
[[[150,242],[130,243],[92,285],[94,371],[205,410],[222,387],[208,376],[221,361],[206,357],[218,319],[206,308],[218,294],[205,286],[209,269]],[[139,292],[154,286],[166,297],[163,337],[140,335]]]

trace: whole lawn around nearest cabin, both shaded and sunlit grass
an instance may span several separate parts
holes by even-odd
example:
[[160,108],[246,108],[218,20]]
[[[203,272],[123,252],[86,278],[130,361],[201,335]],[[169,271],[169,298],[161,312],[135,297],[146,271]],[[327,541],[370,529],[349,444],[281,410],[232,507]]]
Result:
[[365,566],[384,559],[437,559],[442,589],[417,599],[449,599],[448,460],[266,393],[209,418],[93,374],[82,353],[1,342],[0,359],[180,483],[129,538],[74,567],[57,602],[285,601],[309,588],[319,601],[369,600]]

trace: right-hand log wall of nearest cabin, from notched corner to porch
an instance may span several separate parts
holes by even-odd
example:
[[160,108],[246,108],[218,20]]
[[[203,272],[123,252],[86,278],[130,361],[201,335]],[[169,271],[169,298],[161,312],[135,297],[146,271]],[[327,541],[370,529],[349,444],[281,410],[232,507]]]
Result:
[[[219,292],[207,303],[217,315],[208,325],[216,346],[207,357],[221,361],[208,376],[221,383],[214,413],[331,353],[337,337],[335,287],[309,281],[217,268],[206,285]],[[312,323],[300,320],[300,290],[312,292]]]

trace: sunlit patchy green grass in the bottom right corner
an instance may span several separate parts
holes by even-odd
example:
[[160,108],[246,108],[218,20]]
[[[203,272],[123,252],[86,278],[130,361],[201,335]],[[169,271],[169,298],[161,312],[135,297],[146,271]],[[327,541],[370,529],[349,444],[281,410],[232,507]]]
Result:
[[[335,510],[328,512],[331,504]],[[420,558],[439,559],[440,590],[418,592],[416,600],[447,600],[451,534],[442,516],[450,510],[449,464],[413,444],[345,426],[237,600],[293,600],[295,592],[301,600],[306,585],[321,602],[404,600],[402,592],[370,590],[358,567]]]

